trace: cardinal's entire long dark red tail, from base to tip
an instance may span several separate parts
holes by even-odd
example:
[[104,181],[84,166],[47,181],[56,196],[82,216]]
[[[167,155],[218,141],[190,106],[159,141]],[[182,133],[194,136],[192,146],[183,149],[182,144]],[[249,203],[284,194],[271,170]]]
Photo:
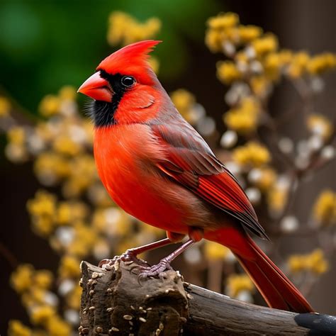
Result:
[[222,233],[225,235],[217,235],[215,241],[233,250],[270,307],[296,313],[314,311],[300,291],[249,236],[233,228]]

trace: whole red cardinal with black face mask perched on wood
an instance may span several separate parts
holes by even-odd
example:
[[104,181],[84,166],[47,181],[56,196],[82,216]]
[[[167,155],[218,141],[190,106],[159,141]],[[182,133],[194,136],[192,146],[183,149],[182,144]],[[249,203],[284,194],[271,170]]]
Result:
[[141,276],[155,276],[204,237],[232,250],[269,306],[312,312],[247,234],[267,239],[233,174],[182,118],[152,71],[148,53],[159,42],[141,41],[114,52],[78,90],[94,99],[94,157],[108,194],[130,215],[167,231],[166,239],[128,250],[123,257],[189,235],[159,264],[141,268]]

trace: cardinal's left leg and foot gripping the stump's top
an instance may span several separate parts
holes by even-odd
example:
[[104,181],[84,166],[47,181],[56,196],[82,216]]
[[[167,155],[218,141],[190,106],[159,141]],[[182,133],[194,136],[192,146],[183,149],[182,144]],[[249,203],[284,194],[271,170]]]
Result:
[[179,242],[183,237],[184,235],[181,235],[179,233],[167,232],[167,238],[158,240],[157,242],[151,242],[150,244],[147,245],[142,245],[140,247],[134,247],[132,249],[126,250],[123,254],[121,254],[121,256],[114,257],[113,259],[103,259],[101,260],[101,262],[99,262],[98,267],[105,269],[106,265],[109,265],[111,267],[116,261],[123,261],[123,262],[131,261],[137,264],[142,264],[142,267],[148,267],[147,262],[138,259],[137,257],[138,254],[155,250],[159,247],[164,247],[166,245],[173,244],[174,242]]

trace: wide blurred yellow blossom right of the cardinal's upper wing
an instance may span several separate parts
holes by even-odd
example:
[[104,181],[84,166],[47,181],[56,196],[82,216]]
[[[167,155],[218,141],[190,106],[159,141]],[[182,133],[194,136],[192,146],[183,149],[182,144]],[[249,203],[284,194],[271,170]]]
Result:
[[250,167],[260,167],[271,160],[269,150],[257,142],[247,142],[233,151],[233,159],[238,164]]

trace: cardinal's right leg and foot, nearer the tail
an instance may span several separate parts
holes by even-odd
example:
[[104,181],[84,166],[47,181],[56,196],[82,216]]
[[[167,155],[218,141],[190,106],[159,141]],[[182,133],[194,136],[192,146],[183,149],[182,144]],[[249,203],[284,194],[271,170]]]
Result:
[[200,241],[203,238],[203,230],[198,228],[190,228],[189,229],[189,240],[184,242],[177,250],[167,255],[159,261],[158,264],[153,265],[152,267],[133,267],[133,269],[137,268],[140,270],[139,281],[142,279],[146,279],[150,276],[159,276],[162,277],[162,272],[166,269],[172,269],[170,263],[179,256],[182,252],[187,250],[191,245],[194,245],[195,242]]

